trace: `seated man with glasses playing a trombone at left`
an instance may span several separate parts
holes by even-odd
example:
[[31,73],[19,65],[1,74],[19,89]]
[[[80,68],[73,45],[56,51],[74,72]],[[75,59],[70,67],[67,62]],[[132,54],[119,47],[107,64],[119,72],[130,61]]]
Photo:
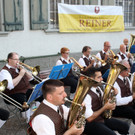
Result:
[[[8,86],[4,93],[23,105],[23,103],[28,100],[30,94],[32,93],[32,88],[30,87],[29,83],[29,81],[33,79],[32,74],[28,73],[21,66],[18,66],[19,55],[16,52],[9,53],[7,56],[7,61],[8,63],[0,72],[0,81],[5,79],[8,80]],[[30,109],[22,112],[22,115],[26,115],[27,119],[29,119]]]

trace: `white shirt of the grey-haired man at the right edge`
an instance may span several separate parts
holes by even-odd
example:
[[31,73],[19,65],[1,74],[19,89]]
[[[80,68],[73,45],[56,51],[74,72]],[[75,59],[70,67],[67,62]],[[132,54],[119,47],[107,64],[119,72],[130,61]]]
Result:
[[[123,80],[123,77],[121,75],[119,75],[118,78]],[[132,84],[131,84],[129,78],[127,78],[127,79],[128,79],[129,85],[130,85],[130,90],[132,92]],[[129,102],[131,102],[133,100],[132,96],[121,97],[121,89],[117,82],[114,83],[114,88],[117,88],[117,90],[118,90],[118,94],[116,95],[116,105],[117,106],[127,105]]]

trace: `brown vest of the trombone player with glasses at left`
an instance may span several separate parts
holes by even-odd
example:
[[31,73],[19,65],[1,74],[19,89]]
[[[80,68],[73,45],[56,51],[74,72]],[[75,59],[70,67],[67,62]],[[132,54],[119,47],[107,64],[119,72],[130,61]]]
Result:
[[[3,69],[7,70],[11,74],[13,79],[19,75],[18,73],[16,73],[15,69],[13,68],[9,69],[8,67],[4,66]],[[15,93],[26,93],[29,88],[30,85],[29,85],[28,77],[24,75],[20,80],[20,82],[14,87],[14,89],[12,90],[6,89],[4,93],[7,95],[12,95]]]

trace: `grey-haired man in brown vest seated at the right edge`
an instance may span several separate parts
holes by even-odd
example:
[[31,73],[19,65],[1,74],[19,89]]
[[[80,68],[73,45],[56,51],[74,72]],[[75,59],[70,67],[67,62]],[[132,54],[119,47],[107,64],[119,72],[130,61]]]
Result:
[[130,65],[128,61],[123,60],[121,64],[127,67],[118,76],[114,87],[118,89],[118,95],[116,96],[116,109],[113,112],[113,116],[132,119],[135,124],[135,93],[132,92],[132,83],[129,80]]

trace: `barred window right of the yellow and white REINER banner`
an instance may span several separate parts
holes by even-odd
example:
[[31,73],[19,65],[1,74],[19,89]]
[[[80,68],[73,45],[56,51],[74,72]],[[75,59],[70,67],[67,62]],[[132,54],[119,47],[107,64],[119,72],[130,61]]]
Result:
[[134,27],[135,26],[135,1],[115,0],[115,5],[123,7],[125,27]]

